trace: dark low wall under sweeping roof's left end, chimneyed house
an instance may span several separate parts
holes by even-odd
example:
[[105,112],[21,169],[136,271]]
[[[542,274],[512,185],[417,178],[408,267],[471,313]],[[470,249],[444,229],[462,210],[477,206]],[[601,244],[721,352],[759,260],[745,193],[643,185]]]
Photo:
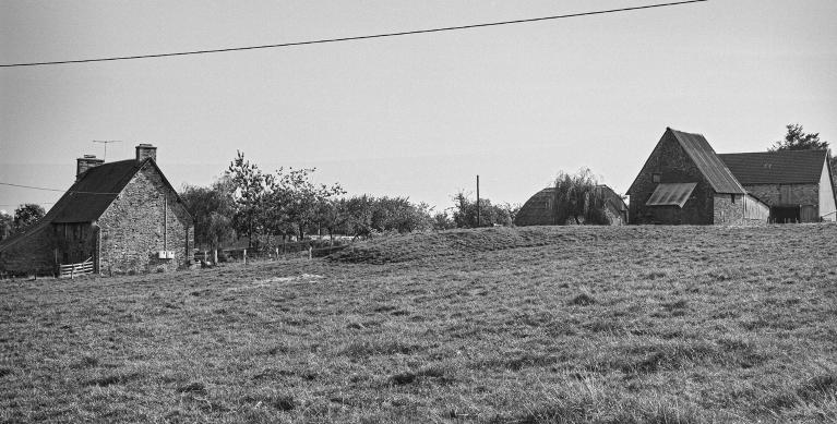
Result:
[[53,275],[57,271],[56,252],[49,226],[36,228],[0,252],[0,271],[13,275]]

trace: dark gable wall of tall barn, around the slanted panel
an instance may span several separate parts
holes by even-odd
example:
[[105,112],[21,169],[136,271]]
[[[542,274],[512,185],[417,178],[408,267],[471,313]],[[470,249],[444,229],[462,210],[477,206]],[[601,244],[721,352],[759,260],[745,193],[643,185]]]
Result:
[[[696,182],[683,208],[677,206],[646,206],[657,183],[651,173],[660,174],[661,183]],[[648,161],[636,178],[631,193],[629,219],[631,223],[713,223],[715,191],[685,150],[672,136],[657,144]]]

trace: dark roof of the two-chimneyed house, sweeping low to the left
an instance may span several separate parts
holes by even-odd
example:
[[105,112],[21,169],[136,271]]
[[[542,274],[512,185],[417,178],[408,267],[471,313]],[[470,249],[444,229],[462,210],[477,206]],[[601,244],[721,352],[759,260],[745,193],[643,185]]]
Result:
[[[25,232],[15,234],[0,242],[0,251],[4,247],[25,239],[27,235],[36,232],[49,223],[71,223],[71,222],[91,222],[98,220],[108,206],[131,182],[131,179],[146,163],[153,166],[163,178],[164,184],[175,193],[180,202],[177,191],[168,182],[157,163],[151,159],[143,160],[120,160],[110,163],[103,163],[91,168],[82,173],[75,183],[58,199],[51,209],[40,218],[35,225]],[[189,214],[187,211],[187,214]],[[191,219],[191,216],[190,216]]]

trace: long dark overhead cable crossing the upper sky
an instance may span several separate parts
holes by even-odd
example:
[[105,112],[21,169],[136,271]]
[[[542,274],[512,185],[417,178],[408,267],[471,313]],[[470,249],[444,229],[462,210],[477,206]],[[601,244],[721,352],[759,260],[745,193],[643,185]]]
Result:
[[633,8],[609,9],[609,10],[600,10],[600,11],[593,11],[593,12],[570,13],[570,14],[563,14],[563,15],[530,17],[530,19],[514,20],[514,21],[489,22],[489,23],[483,23],[483,24],[446,26],[446,27],[441,27],[441,28],[404,31],[404,32],[398,32],[398,33],[383,33],[383,34],[373,34],[373,35],[360,35],[360,36],[352,36],[352,37],[323,38],[323,39],[316,39],[316,40],[282,43],[282,44],[262,45],[262,46],[229,47],[229,48],[223,48],[223,49],[179,51],[179,52],[174,52],[174,53],[119,56],[119,57],[97,58],[97,59],[60,60],[60,61],[53,61],[53,62],[8,63],[8,64],[0,64],[0,68],[39,66],[39,65],[49,65],[49,64],[89,63],[89,62],[108,62],[108,61],[117,61],[117,60],[132,60],[132,59],[168,58],[168,57],[174,57],[174,56],[222,53],[222,52],[230,52],[230,51],[273,49],[273,48],[280,48],[280,47],[307,46],[307,45],[318,45],[318,44],[326,44],[326,43],[356,41],[356,40],[364,40],[364,39],[372,39],[372,38],[398,37],[398,36],[404,36],[404,35],[442,33],[442,32],[447,32],[447,31],[474,29],[474,28],[485,28],[485,27],[489,27],[489,26],[515,25],[515,24],[524,24],[524,23],[540,22],[540,21],[552,21],[552,20],[560,20],[560,19],[565,19],[565,17],[579,17],[579,16],[590,16],[590,15],[599,15],[599,14],[606,14],[606,13],[630,12],[630,11],[637,11],[637,10],[645,10],[645,9],[665,8],[665,7],[670,7],[670,5],[682,5],[682,4],[689,4],[689,3],[701,3],[701,2],[706,2],[706,1],[709,1],[709,0],[675,1],[675,2],[669,2],[669,3],[646,4],[646,5],[637,5],[637,7],[633,7]]

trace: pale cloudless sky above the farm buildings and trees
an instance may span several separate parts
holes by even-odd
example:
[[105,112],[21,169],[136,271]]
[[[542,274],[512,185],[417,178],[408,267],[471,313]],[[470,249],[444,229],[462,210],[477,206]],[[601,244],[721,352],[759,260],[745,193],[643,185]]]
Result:
[[[653,3],[0,0],[0,63],[301,41]],[[713,0],[522,25],[244,52],[0,69],[0,182],[68,189],[158,147],[178,189],[236,150],[350,194],[523,203],[589,167],[624,192],[666,126],[719,153],[799,122],[837,143],[837,2]],[[0,209],[60,193],[0,186]],[[51,205],[45,205],[47,208]]]

